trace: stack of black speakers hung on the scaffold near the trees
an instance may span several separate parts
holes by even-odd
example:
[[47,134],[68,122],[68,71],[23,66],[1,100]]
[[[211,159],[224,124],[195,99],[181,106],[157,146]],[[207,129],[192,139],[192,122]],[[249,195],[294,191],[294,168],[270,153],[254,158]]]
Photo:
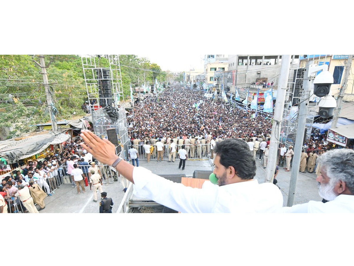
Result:
[[96,70],[96,74],[98,79],[99,105],[101,105],[102,107],[106,105],[112,106],[113,98],[110,81],[110,70],[109,68],[98,68]]

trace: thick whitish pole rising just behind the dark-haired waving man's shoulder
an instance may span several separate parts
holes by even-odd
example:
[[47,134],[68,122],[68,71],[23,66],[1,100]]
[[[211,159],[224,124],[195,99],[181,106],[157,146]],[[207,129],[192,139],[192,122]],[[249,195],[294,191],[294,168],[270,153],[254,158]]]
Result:
[[278,143],[280,138],[281,120],[283,116],[287,82],[290,71],[290,55],[281,56],[280,77],[278,82],[278,94],[274,108],[272,134],[270,134],[267,168],[265,168],[265,182],[272,182],[278,159]]

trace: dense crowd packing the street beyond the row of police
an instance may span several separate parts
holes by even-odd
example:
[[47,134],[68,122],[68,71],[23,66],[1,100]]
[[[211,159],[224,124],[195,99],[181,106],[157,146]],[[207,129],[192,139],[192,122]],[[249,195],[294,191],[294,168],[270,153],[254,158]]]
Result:
[[[186,146],[187,153],[190,157],[202,157],[211,152],[214,138],[217,143],[227,138],[248,141],[256,136],[269,137],[272,115],[258,112],[253,117],[252,113],[221,99],[207,99],[198,90],[174,84],[156,100],[135,105],[128,115],[128,135],[131,144],[141,147],[144,144],[155,146],[159,139],[164,144],[172,139],[178,148],[182,144],[196,144],[197,149]],[[179,142],[180,139],[183,142]],[[206,149],[202,148],[204,146]]]

